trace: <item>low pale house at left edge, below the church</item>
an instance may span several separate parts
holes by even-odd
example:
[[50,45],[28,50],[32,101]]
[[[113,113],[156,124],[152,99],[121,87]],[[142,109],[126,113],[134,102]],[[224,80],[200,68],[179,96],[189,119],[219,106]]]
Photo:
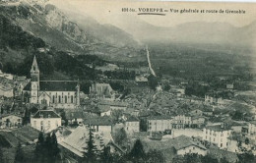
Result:
[[19,127],[22,125],[23,118],[17,115],[5,115],[1,117],[2,127]]

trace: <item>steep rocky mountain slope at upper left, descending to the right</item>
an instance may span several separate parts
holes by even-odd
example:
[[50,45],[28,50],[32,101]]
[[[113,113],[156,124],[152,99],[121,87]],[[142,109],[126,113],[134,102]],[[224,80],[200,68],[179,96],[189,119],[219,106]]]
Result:
[[118,27],[100,25],[96,21],[91,27],[80,27],[54,5],[28,2],[1,5],[0,14],[60,50],[77,54],[94,49],[97,43],[117,48],[137,45],[132,35]]

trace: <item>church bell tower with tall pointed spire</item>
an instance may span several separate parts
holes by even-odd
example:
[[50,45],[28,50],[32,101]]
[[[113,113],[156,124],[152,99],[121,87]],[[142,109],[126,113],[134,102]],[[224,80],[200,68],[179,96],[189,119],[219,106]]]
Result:
[[32,70],[31,70],[31,103],[38,103],[38,92],[39,92],[39,69],[36,62],[35,56],[32,61]]

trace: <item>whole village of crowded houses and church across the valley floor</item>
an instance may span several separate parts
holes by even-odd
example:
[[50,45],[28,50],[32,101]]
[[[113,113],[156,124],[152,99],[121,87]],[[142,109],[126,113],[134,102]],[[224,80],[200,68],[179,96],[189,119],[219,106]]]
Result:
[[99,76],[103,82],[94,82],[89,93],[80,90],[80,81],[41,81],[35,56],[31,79],[0,72],[3,161],[13,162],[21,144],[32,162],[40,135],[56,136],[67,162],[83,161],[92,135],[97,151],[108,147],[118,157],[133,151],[138,140],[145,152],[160,152],[160,162],[196,154],[231,163],[245,153],[256,155],[255,101],[232,81],[220,77],[224,86],[200,97],[188,95],[190,83],[182,79],[162,77],[154,87],[151,69],[126,81],[129,91],[114,90]]

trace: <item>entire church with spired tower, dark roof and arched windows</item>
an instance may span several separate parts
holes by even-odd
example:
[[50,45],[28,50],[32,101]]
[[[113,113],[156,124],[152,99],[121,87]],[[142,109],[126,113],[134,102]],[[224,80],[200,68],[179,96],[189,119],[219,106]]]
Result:
[[53,108],[75,109],[80,105],[78,81],[40,81],[35,56],[32,61],[31,81],[24,87],[25,102]]

